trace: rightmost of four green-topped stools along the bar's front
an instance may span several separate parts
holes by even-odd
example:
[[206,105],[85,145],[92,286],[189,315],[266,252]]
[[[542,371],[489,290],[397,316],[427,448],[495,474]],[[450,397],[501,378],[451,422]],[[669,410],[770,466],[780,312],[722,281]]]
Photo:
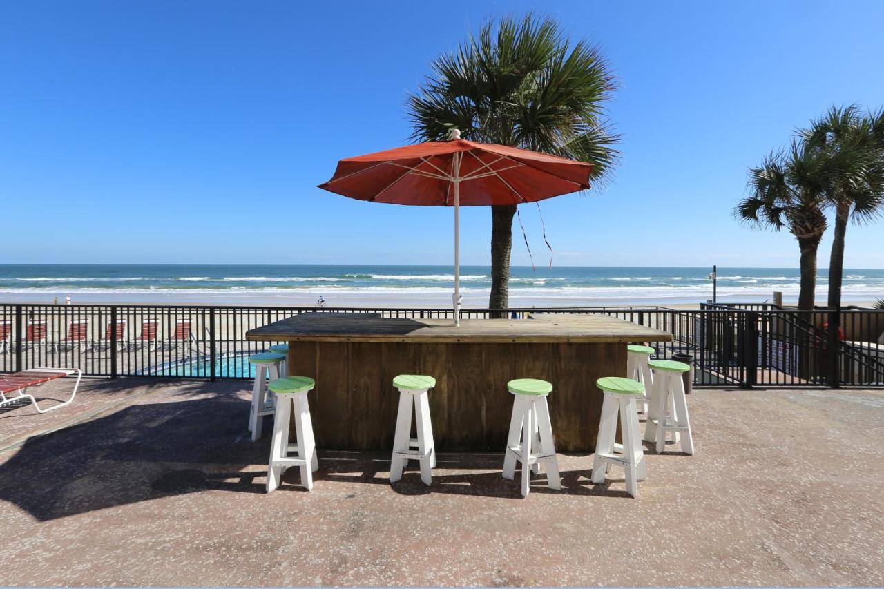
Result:
[[[605,394],[602,417],[598,424],[596,455],[592,459],[592,482],[605,482],[605,475],[612,464],[622,466],[626,478],[626,492],[636,496],[637,481],[647,477],[644,448],[638,432],[636,400],[644,395],[644,385],[633,379],[605,377],[596,381]],[[622,446],[614,444],[617,432],[617,416],[620,416]],[[622,453],[617,452],[618,447]]]

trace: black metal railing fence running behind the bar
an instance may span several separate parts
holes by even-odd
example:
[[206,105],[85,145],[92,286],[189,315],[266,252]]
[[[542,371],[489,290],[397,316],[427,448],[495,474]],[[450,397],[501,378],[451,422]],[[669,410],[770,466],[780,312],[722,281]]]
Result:
[[[248,379],[248,356],[268,342],[249,329],[303,312],[452,317],[450,309],[0,304],[0,371],[80,368],[94,376]],[[531,308],[598,313],[671,333],[658,357],[693,357],[696,386],[884,386],[884,311],[797,311],[771,305]],[[487,318],[489,310],[463,310]],[[831,326],[831,327],[830,327]]]

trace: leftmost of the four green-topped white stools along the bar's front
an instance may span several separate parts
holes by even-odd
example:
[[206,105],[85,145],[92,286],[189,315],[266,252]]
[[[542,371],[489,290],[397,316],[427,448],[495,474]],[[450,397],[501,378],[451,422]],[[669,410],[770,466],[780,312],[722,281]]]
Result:
[[[319,469],[316,457],[316,439],[310,420],[307,394],[316,382],[309,377],[286,377],[271,380],[269,388],[277,395],[276,415],[273,417],[271,459],[267,465],[267,493],[279,486],[283,473],[292,466],[301,467],[301,485],[308,491],[313,488],[313,471]],[[289,420],[294,413],[294,444],[288,443]],[[294,452],[296,455],[290,456]]]

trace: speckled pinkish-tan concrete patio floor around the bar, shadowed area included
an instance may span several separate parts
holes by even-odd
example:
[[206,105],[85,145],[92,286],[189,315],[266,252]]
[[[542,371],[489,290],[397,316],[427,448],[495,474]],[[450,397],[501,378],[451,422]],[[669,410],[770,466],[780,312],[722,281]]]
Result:
[[697,454],[647,450],[638,498],[560,455],[566,488],[522,500],[501,455],[390,486],[328,449],[267,495],[246,385],[87,386],[149,390],[0,454],[0,585],[884,584],[884,391],[699,390]]

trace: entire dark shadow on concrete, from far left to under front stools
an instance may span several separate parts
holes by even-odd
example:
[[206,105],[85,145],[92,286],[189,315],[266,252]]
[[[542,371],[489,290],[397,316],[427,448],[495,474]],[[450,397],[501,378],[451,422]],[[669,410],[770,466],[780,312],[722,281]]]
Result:
[[[108,380],[96,386],[116,390],[125,384]],[[266,467],[259,465],[270,454],[271,418],[264,425],[263,439],[252,442],[245,428],[248,401],[240,398],[237,386],[194,382],[176,389],[180,391],[172,397],[176,401],[130,405],[27,440],[0,464],[0,499],[46,521],[207,490],[264,493]],[[321,450],[319,463],[314,474],[317,485],[324,481],[390,485],[388,452]],[[586,463],[590,464],[589,457]],[[409,463],[403,478],[391,488],[406,495],[521,498],[521,472],[516,470],[515,480],[504,479],[502,464],[502,454],[439,454],[432,486],[424,486],[417,464]],[[452,470],[464,472],[450,474]],[[629,496],[609,488],[608,483],[617,478],[592,485],[589,468],[566,470],[561,476],[561,491],[549,489],[541,474],[534,477],[531,492]],[[286,470],[279,491],[303,492],[300,478],[299,469]]]

